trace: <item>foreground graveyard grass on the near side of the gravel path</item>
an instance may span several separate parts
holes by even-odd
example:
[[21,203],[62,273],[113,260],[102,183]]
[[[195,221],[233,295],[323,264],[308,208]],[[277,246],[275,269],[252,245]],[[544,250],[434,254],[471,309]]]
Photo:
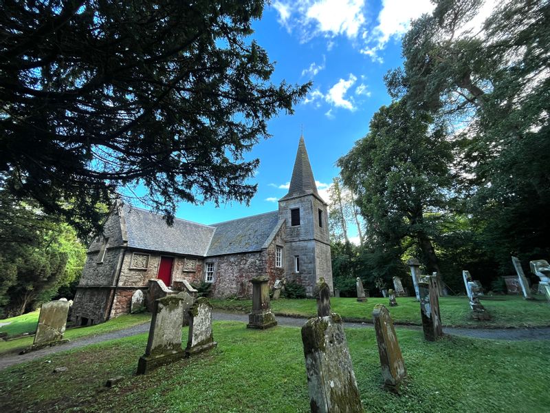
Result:
[[[183,331],[184,343],[187,328]],[[548,341],[489,341],[397,330],[408,380],[382,390],[373,329],[347,329],[366,412],[544,412],[550,405]],[[218,347],[136,376],[147,335],[70,350],[0,374],[0,405],[13,411],[309,412],[300,329],[250,330],[214,322]],[[47,363],[46,361],[51,361]],[[54,368],[68,370],[54,373]],[[111,377],[124,376],[115,388]]]

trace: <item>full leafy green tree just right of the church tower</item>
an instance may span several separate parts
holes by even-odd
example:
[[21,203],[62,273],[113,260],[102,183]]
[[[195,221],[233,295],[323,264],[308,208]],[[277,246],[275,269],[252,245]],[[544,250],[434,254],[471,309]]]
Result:
[[367,242],[378,257],[373,260],[382,260],[388,268],[399,266],[406,249],[402,242],[410,237],[426,269],[440,273],[432,238],[441,213],[448,209],[452,184],[452,151],[446,138],[445,128],[432,125],[429,114],[394,102],[375,113],[369,134],[338,160],[344,183],[357,193],[369,228]]

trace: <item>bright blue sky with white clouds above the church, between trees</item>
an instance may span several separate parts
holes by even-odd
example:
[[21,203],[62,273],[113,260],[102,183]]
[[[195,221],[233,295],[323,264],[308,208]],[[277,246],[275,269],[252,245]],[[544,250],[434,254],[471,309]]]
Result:
[[276,62],[272,81],[314,85],[294,115],[270,120],[272,138],[249,154],[261,160],[250,207],[181,203],[177,217],[211,224],[277,209],[276,200],[287,193],[302,127],[323,194],[338,175],[336,160],[367,133],[373,113],[390,102],[383,76],[401,65],[400,39],[410,19],[433,7],[429,0],[278,0],[266,6],[252,37]]

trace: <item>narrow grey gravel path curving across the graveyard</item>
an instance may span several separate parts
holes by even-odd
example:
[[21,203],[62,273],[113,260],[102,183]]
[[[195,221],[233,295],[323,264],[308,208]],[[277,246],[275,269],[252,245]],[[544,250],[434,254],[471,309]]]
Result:
[[[221,311],[214,311],[212,314],[216,321],[243,321],[248,323],[248,315],[238,313],[225,313]],[[304,325],[306,319],[293,318],[293,317],[276,317],[279,326],[301,327]],[[364,323],[344,323],[345,328],[373,328],[372,324]],[[421,330],[421,326],[403,326],[396,324],[396,328],[408,328],[410,330]],[[79,348],[88,346],[89,344],[101,343],[102,341],[108,341],[113,339],[120,339],[122,337],[130,337],[138,335],[143,332],[148,332],[149,323],[140,324],[124,330],[118,330],[113,332],[107,332],[102,335],[83,337],[75,339],[69,343],[62,344],[60,346],[47,347],[41,350],[36,350],[27,354],[7,354],[0,356],[0,370],[14,364],[24,363],[38,359],[39,357],[46,356],[48,354],[54,354],[72,348]],[[457,335],[462,337],[472,337],[476,339],[498,339],[498,340],[550,340],[550,327],[544,328],[496,328],[483,330],[480,328],[443,328],[443,332],[448,335]]]

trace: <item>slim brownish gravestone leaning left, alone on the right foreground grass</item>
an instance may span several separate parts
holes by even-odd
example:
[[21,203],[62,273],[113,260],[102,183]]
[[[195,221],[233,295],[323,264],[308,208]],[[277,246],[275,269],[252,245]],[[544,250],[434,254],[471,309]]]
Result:
[[384,387],[396,392],[399,390],[401,381],[406,377],[407,370],[397,335],[395,335],[395,328],[393,328],[393,320],[388,309],[382,304],[376,304],[374,307],[373,323],[376,330]]

